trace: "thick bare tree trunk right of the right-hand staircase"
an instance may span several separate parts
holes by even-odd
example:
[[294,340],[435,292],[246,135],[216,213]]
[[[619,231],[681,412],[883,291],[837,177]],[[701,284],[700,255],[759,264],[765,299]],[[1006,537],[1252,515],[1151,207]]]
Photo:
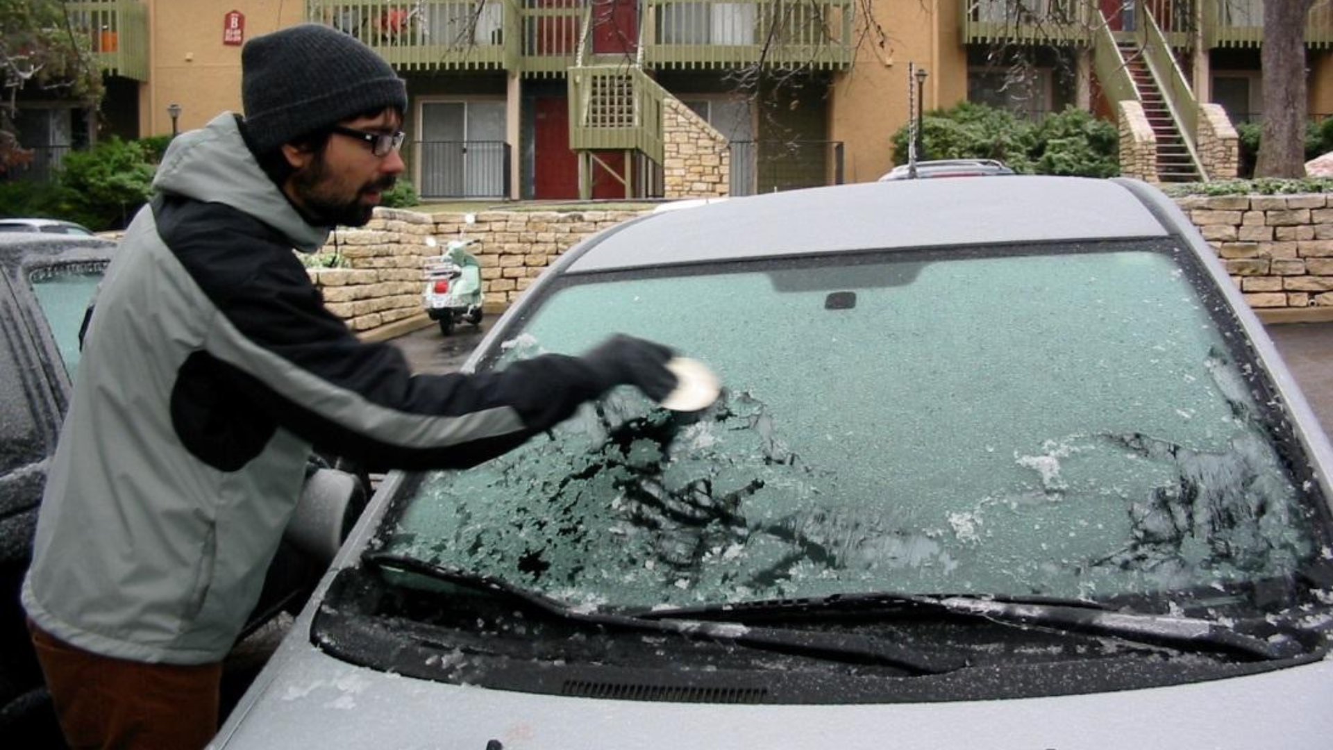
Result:
[[1313,4],[1264,3],[1264,136],[1256,177],[1305,176],[1305,19]]

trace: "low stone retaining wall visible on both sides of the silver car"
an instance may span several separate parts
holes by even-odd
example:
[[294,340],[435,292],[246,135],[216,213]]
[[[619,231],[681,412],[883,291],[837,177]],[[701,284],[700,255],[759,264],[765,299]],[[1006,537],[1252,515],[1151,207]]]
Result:
[[[1217,250],[1236,286],[1260,311],[1333,314],[1333,198],[1328,195],[1182,198],[1177,203]],[[339,230],[349,268],[311,270],[329,310],[355,331],[421,312],[424,264],[445,242],[480,240],[487,304],[519,299],[556,258],[580,240],[639,216],[637,211],[481,211],[416,214],[376,210],[360,230]],[[439,246],[427,246],[435,236]]]

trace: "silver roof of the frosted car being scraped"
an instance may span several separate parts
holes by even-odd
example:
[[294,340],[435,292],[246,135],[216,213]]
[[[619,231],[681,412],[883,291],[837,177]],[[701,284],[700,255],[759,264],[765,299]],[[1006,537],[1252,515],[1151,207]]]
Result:
[[1016,175],[797,190],[657,212],[580,246],[565,272],[880,248],[1164,238],[1133,183]]

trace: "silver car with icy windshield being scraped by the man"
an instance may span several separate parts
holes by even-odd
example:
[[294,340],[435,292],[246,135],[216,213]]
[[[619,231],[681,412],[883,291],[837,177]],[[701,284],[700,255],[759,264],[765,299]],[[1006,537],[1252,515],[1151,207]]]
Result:
[[1134,180],[660,212],[465,366],[623,331],[632,388],[391,474],[213,747],[1326,747],[1333,452]]

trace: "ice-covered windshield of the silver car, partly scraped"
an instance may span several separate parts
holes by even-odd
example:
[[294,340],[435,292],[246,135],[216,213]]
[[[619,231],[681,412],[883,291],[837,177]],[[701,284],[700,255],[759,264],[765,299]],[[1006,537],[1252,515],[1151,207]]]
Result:
[[497,367],[624,331],[724,398],[616,390],[427,475],[387,547],[608,607],[1286,575],[1316,542],[1240,334],[1176,252],[1128,247],[569,278]]

